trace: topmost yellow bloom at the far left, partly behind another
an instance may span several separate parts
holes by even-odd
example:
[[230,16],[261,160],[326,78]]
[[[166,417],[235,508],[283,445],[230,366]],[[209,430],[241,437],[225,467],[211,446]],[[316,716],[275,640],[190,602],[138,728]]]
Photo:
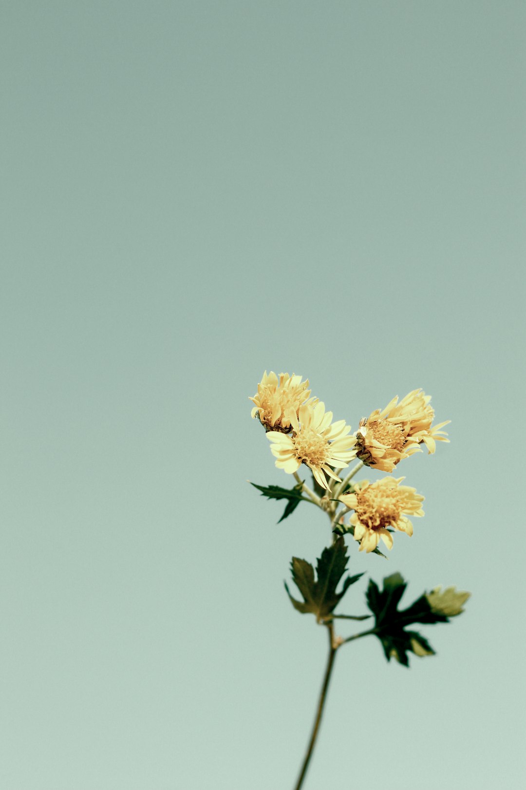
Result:
[[280,373],[278,378],[274,371],[268,375],[265,371],[256,395],[249,398],[256,404],[252,409],[252,417],[259,417],[265,431],[288,433],[292,427],[297,427],[300,406],[310,394],[308,379],[302,382],[301,376],[289,376],[288,373]]

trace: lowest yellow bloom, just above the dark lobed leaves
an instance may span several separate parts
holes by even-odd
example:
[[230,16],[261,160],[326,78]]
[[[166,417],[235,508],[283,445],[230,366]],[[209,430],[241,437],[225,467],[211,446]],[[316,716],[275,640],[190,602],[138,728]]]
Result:
[[412,523],[405,514],[423,516],[423,496],[416,488],[401,486],[403,477],[383,477],[375,483],[361,480],[353,494],[342,494],[340,501],[355,512],[350,518],[354,540],[360,540],[360,551],[374,551],[380,538],[387,548],[393,547],[393,537],[386,527],[412,535]]

